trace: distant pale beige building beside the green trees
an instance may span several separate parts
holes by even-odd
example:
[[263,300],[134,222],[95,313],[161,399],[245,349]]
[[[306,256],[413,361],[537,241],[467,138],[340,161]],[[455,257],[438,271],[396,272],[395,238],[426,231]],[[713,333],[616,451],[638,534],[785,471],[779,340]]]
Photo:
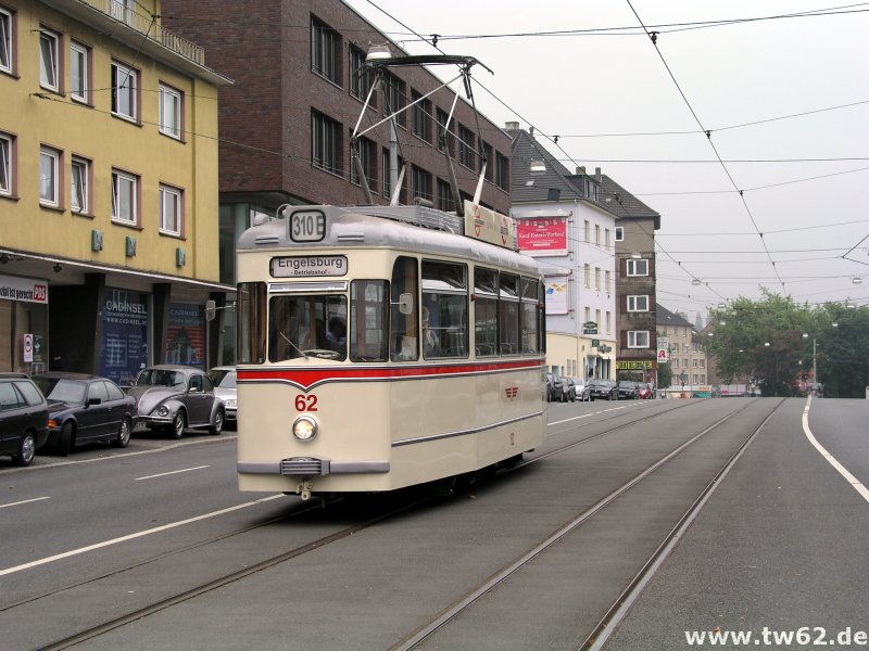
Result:
[[668,350],[671,386],[696,391],[710,384],[703,337],[691,322],[663,305],[657,306],[656,317],[657,345]]

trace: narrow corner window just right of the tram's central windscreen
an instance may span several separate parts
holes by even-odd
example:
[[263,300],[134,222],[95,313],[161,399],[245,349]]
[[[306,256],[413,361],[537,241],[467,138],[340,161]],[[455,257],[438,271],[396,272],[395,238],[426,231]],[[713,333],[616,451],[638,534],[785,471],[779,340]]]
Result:
[[350,283],[350,359],[386,361],[389,293],[385,280]]

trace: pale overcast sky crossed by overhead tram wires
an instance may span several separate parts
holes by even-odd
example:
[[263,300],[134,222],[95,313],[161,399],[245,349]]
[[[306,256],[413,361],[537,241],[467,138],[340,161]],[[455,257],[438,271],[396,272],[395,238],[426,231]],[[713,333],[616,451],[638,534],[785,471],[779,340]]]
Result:
[[412,54],[437,53],[415,31],[477,58],[487,117],[660,213],[665,307],[869,304],[869,2],[347,1]]

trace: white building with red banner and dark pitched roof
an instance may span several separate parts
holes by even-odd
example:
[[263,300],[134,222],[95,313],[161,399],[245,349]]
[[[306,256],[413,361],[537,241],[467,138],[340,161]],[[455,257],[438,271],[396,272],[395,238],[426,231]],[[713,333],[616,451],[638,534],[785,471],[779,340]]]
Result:
[[506,129],[519,248],[545,276],[547,363],[568,376],[613,378],[617,226],[600,169],[570,174],[518,123]]

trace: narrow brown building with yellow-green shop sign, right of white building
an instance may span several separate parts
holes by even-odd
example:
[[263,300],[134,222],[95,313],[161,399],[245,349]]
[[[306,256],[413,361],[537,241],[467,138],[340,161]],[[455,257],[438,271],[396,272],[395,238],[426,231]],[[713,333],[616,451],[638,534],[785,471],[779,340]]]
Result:
[[617,374],[657,384],[655,231],[660,215],[608,176],[600,176],[600,183],[617,219]]

